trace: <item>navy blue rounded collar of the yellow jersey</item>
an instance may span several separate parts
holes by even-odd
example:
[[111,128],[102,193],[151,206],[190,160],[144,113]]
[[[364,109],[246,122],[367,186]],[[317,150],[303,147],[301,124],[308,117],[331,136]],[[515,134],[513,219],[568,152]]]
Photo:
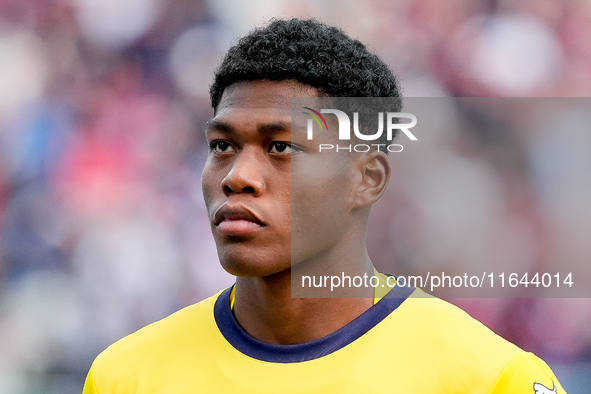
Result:
[[297,345],[270,344],[248,335],[230,309],[231,290],[230,287],[222,292],[214,307],[215,321],[226,340],[240,352],[258,360],[297,363],[326,356],[347,346],[398,308],[415,288],[396,286],[377,304],[343,328],[315,341]]

